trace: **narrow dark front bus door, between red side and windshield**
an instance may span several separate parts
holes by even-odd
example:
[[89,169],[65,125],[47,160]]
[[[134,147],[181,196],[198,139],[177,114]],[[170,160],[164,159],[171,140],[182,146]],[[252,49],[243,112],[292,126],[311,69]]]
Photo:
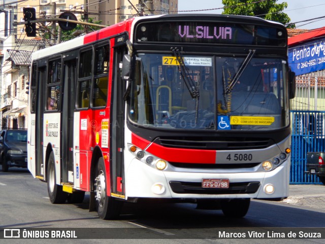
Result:
[[124,195],[124,107],[123,99],[125,82],[121,79],[121,66],[123,55],[126,53],[125,41],[127,36],[124,34],[115,38],[114,45],[114,73],[111,98],[111,142],[110,142],[110,161],[112,169],[111,186],[112,193]]

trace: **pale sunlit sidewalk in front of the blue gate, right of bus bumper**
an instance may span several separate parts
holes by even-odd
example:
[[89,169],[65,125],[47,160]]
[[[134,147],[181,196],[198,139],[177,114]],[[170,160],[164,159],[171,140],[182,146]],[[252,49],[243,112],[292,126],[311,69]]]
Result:
[[290,185],[289,197],[281,202],[325,209],[324,185]]

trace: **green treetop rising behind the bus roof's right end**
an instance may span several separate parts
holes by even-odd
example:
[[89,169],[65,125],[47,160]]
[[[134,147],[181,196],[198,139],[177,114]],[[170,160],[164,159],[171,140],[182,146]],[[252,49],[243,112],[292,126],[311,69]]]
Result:
[[[283,10],[288,7],[286,2],[277,4],[278,0],[222,0],[225,9],[222,14],[256,16],[266,20],[273,20],[282,24],[290,23],[290,18]],[[295,28],[295,24],[290,24],[288,28]]]

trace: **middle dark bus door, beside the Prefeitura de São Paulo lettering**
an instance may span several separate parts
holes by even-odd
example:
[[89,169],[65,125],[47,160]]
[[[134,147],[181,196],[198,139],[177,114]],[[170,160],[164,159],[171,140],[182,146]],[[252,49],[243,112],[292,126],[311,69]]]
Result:
[[[73,55],[68,55],[73,56]],[[75,77],[77,59],[64,60],[61,104],[61,139],[60,149],[62,182],[74,183],[73,139],[75,109]]]

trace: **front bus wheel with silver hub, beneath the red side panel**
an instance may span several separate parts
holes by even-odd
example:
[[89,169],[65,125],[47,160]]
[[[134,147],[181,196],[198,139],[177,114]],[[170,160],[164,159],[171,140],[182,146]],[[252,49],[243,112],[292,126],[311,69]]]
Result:
[[106,170],[104,159],[101,157],[98,160],[95,170],[94,192],[95,205],[98,216],[103,220],[116,219],[121,211],[122,202],[116,200],[114,197],[107,196],[106,190]]

